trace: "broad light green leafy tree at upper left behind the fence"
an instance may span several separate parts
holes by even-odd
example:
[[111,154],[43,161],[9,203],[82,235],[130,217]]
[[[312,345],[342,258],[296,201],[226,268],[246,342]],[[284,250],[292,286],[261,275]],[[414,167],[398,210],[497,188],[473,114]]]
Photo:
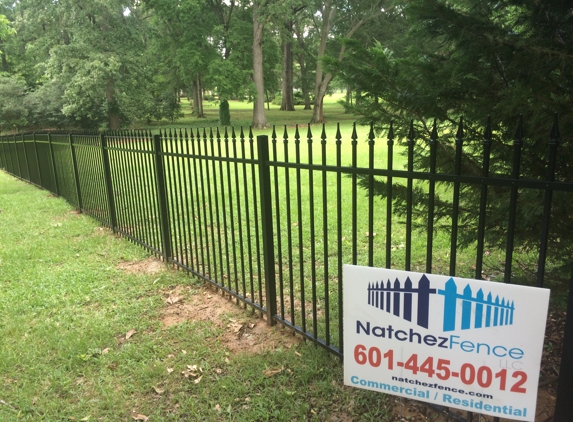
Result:
[[118,129],[142,118],[151,80],[138,6],[135,0],[16,3],[21,52],[14,70],[30,88],[64,87],[62,111],[77,125]]

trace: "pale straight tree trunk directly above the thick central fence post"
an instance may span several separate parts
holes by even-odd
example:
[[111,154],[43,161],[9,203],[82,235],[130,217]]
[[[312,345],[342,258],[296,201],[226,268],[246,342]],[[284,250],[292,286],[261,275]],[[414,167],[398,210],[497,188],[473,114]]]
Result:
[[265,113],[265,82],[263,77],[263,29],[265,25],[260,22],[259,5],[253,3],[253,82],[257,89],[257,96],[253,104],[254,129],[268,127]]

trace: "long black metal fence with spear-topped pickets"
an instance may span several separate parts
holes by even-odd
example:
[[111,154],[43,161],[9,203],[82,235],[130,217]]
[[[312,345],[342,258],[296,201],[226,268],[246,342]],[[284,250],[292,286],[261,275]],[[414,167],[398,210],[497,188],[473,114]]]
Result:
[[[499,279],[505,282],[514,281],[516,216],[528,206],[520,195],[544,192],[536,253],[537,285],[543,285],[552,195],[573,192],[573,181],[555,181],[556,139],[540,180],[520,175],[521,140],[514,144],[514,171],[500,176],[489,172],[491,139],[484,142],[481,171],[469,175],[461,171],[461,140],[455,170],[446,174],[435,171],[435,139],[430,171],[418,171],[412,139],[395,146],[391,135],[379,148],[372,130],[367,142],[359,142],[356,130],[350,139],[340,130],[333,138],[324,127],[318,142],[310,128],[301,139],[298,127],[292,140],[286,128],[282,136],[273,130],[270,140],[227,128],[19,134],[0,138],[0,167],[337,356],[343,350],[343,263],[481,279],[491,253],[483,241],[488,187],[508,190],[507,244],[492,258],[504,261]],[[397,156],[397,148],[404,154]],[[387,187],[382,196],[375,194],[380,180]],[[397,182],[406,192],[403,217],[394,215]],[[467,185],[480,187],[480,217],[475,245],[459,250],[460,189]],[[416,186],[429,198],[428,226],[420,235],[412,221]],[[434,199],[448,186],[451,230],[440,233]]]

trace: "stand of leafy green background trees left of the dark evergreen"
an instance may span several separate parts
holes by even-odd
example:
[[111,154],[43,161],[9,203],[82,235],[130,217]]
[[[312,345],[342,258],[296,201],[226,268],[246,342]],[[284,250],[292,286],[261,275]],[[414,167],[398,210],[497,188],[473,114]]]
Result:
[[314,98],[313,121],[324,121],[322,98],[334,75],[321,58],[343,55],[341,37],[371,38],[381,4],[0,0],[2,71],[25,82],[26,100],[25,117],[3,127],[117,129],[175,120],[182,96],[203,117],[207,94],[252,101],[253,126],[265,126],[264,104],[281,95],[284,110],[292,110],[297,90],[305,108]]

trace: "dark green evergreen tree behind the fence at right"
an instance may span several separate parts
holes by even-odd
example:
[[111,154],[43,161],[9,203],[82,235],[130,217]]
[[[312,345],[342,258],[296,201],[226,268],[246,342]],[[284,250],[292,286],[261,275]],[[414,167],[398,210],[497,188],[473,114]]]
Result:
[[[329,61],[348,81],[363,92],[354,110],[363,121],[378,128],[408,128],[416,119],[416,166],[428,170],[428,140],[431,120],[438,119],[441,157],[438,171],[452,171],[455,146],[452,125],[464,116],[463,172],[480,175],[483,127],[492,115],[492,169],[511,173],[517,116],[523,114],[525,143],[521,172],[544,179],[547,140],[553,113],[560,116],[561,139],[557,179],[573,179],[573,20],[570,4],[559,0],[537,1],[442,1],[397,2],[389,12],[393,30],[399,34],[379,40],[371,48],[352,43],[351,53],[338,64]],[[452,135],[450,135],[452,134]],[[402,131],[400,136],[404,136]],[[378,185],[385,189],[383,183]],[[399,195],[399,187],[395,187]],[[479,187],[465,186],[461,207],[465,217],[460,242],[475,240],[478,209],[474,205]],[[382,190],[378,194],[383,195]],[[418,192],[418,216],[426,206],[424,192]],[[524,190],[515,242],[523,250],[539,247],[542,192]],[[403,200],[399,199],[399,201]],[[447,198],[440,198],[436,215],[448,218]],[[502,247],[506,242],[507,190],[489,190],[486,242]],[[555,194],[549,244],[556,262],[571,260],[573,242],[563,233],[573,231],[568,210],[572,201]],[[398,204],[399,206],[399,204]],[[400,209],[400,208],[398,208]]]

